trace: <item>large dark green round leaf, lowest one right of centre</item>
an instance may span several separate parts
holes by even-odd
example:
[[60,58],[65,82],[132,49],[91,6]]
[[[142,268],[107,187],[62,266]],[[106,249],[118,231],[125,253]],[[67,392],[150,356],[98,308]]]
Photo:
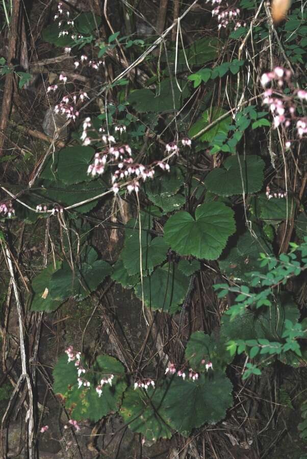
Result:
[[163,413],[184,435],[204,423],[221,421],[232,406],[233,386],[222,372],[201,374],[195,381],[174,377],[163,400]]

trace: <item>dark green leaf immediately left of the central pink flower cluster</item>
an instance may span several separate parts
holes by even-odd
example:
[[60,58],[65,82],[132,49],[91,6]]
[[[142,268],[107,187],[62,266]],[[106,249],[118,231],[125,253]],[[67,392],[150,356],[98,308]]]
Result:
[[60,180],[66,185],[90,180],[87,174],[89,163],[95,150],[90,146],[74,145],[56,151],[54,157],[47,161],[42,179]]

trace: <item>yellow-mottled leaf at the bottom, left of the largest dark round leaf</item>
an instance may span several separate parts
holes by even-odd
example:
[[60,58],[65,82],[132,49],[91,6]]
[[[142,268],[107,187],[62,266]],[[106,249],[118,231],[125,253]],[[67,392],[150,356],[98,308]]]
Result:
[[164,391],[159,388],[148,388],[146,392],[129,388],[124,394],[120,414],[133,432],[142,433],[149,441],[171,438],[169,420],[161,414],[163,397]]

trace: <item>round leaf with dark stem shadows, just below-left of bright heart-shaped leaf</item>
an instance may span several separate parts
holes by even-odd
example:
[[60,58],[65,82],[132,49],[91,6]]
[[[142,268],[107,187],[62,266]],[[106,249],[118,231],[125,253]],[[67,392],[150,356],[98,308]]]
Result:
[[[176,266],[164,265],[143,278],[144,303],[147,308],[174,314],[183,303],[189,287],[189,277]],[[142,300],[142,284],[135,286],[136,296]]]

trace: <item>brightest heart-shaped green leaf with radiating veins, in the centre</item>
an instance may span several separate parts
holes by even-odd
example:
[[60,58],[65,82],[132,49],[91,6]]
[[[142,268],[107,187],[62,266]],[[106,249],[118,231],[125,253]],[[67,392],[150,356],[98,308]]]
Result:
[[216,260],[236,230],[234,212],[222,202],[209,202],[188,212],[177,212],[164,226],[164,237],[181,255]]

